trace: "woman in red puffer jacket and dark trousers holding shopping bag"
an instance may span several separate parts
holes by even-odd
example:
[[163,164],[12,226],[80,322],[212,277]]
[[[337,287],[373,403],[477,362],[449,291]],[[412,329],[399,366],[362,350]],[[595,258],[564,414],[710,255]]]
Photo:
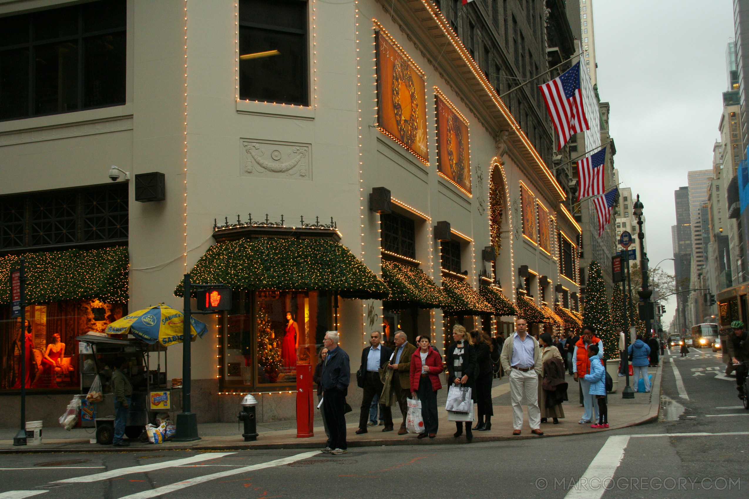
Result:
[[444,367],[442,357],[430,343],[428,336],[420,337],[419,349],[411,355],[411,395],[419,395],[424,420],[424,432],[419,433],[419,438],[437,436],[437,390],[442,388],[439,374]]

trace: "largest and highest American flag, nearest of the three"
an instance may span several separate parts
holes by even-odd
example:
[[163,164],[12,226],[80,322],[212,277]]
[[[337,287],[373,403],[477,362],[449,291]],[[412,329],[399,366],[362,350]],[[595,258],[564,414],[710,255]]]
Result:
[[574,64],[551,82],[539,85],[539,90],[559,135],[557,150],[560,150],[572,134],[589,128],[583,108],[583,94],[580,91],[580,63]]

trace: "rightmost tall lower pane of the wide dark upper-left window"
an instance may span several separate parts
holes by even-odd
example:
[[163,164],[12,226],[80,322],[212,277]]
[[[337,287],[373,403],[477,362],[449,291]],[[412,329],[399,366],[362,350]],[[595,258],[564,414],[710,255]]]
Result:
[[125,32],[83,40],[83,106],[125,102]]

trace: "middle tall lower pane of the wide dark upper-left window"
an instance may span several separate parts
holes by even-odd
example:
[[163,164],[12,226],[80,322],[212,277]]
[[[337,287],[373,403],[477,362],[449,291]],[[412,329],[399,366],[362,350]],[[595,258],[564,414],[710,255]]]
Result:
[[78,108],[78,43],[51,43],[36,51],[36,114]]

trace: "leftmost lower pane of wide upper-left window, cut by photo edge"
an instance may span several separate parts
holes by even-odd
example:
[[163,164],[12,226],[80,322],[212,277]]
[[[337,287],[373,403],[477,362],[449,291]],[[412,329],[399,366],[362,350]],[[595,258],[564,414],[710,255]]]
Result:
[[28,49],[0,52],[0,120],[28,116]]

